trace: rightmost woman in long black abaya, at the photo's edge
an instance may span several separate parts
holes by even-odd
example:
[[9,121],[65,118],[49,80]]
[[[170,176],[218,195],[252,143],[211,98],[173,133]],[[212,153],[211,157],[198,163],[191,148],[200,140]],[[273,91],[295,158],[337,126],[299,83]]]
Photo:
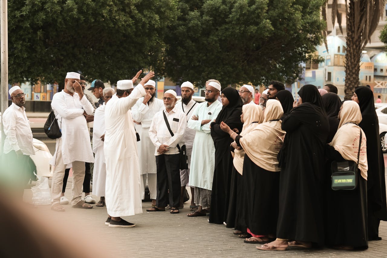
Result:
[[355,89],[352,100],[359,104],[363,120],[359,124],[367,138],[367,209],[368,241],[382,240],[379,237],[380,220],[387,220],[384,158],[379,138],[379,121],[375,112],[373,93],[370,88]]

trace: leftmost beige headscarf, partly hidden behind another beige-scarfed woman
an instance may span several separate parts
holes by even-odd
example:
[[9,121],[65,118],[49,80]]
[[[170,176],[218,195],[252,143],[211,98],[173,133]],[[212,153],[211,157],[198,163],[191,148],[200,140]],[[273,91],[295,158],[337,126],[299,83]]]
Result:
[[[262,108],[256,104],[246,104],[242,106],[243,112],[243,128],[240,136],[251,132],[254,128],[256,128],[262,121],[264,120],[264,114]],[[258,123],[253,123],[258,122]],[[231,152],[233,153],[233,152]],[[234,159],[233,164],[238,171],[239,174],[242,174],[243,171],[243,157],[245,157],[245,151],[242,150],[234,150]]]

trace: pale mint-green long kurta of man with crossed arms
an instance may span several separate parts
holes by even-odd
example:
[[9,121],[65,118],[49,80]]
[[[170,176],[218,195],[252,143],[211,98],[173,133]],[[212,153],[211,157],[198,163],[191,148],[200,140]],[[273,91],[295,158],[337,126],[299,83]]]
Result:
[[222,104],[214,101],[209,107],[207,102],[197,104],[192,116],[199,117],[199,120],[188,120],[188,128],[196,130],[194,146],[192,147],[190,179],[188,185],[212,190],[212,180],[215,168],[215,147],[211,137],[210,123],[201,125],[202,120],[211,119],[215,121]]

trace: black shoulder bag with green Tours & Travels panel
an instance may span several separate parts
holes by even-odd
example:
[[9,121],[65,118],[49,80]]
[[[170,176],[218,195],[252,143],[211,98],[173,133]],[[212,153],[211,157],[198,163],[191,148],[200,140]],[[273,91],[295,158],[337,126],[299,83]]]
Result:
[[360,140],[358,150],[358,162],[354,161],[332,161],[332,190],[354,190],[358,184],[358,165],[360,156],[361,145],[361,128],[360,128]]

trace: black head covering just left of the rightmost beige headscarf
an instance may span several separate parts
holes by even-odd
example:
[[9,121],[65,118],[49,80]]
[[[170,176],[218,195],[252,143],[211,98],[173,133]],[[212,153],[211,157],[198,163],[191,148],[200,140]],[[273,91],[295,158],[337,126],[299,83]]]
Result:
[[340,120],[337,118],[337,116],[340,111],[341,100],[337,94],[332,92],[325,93],[321,99],[329,120],[329,134],[327,139],[327,144],[329,144],[337,132],[337,128],[339,127]]

